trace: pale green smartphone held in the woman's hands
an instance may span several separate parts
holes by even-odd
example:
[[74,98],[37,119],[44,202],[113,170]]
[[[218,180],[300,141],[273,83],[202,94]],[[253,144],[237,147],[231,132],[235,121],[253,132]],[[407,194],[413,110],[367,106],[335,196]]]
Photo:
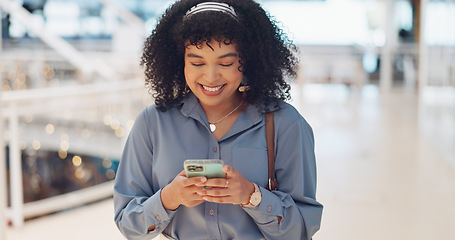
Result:
[[188,159],[183,162],[187,177],[224,178],[221,159]]

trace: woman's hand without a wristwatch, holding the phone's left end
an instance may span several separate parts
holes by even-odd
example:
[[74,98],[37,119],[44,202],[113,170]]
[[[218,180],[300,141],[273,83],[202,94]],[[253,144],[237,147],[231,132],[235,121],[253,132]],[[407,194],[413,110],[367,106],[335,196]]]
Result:
[[175,210],[180,205],[194,207],[205,200],[197,192],[203,187],[196,186],[197,183],[205,183],[206,177],[187,178],[185,171],[181,171],[166,187],[161,190],[161,202],[167,210]]

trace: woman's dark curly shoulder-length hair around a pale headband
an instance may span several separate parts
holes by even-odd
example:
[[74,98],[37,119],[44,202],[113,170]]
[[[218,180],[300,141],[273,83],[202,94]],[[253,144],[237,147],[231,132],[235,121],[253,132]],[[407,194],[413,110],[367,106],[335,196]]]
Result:
[[290,99],[287,78],[296,77],[297,48],[254,0],[212,0],[232,6],[237,18],[221,11],[185,16],[204,0],[180,0],[168,8],[144,44],[141,65],[146,86],[160,110],[181,103],[187,94],[184,76],[185,44],[216,40],[237,44],[246,99],[259,107]]

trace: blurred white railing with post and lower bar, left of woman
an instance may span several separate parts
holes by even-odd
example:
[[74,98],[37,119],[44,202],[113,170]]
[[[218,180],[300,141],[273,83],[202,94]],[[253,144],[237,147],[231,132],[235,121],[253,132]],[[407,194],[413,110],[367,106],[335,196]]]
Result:
[[[31,89],[19,91],[7,91],[0,94],[0,121],[7,123],[8,128],[5,142],[9,145],[10,161],[10,184],[11,207],[6,211],[6,215],[11,219],[13,226],[20,227],[24,219],[45,215],[51,212],[68,209],[77,205],[93,202],[112,195],[113,183],[108,181],[76,192],[62,194],[39,201],[24,204],[23,182],[22,182],[22,159],[21,142],[30,145],[29,134],[21,133],[22,128],[27,123],[21,123],[20,119],[30,116],[45,116],[52,120],[64,121],[62,109],[68,111],[79,111],[87,113],[95,111],[97,114],[80,114],[72,117],[72,122],[78,123],[103,123],[102,116],[118,119],[118,128],[122,128],[122,134],[116,134],[115,129],[111,132],[99,131],[103,134],[103,140],[96,138],[97,132],[91,134],[92,140],[72,141],[71,149],[81,153],[89,152],[100,156],[110,155],[118,158],[122,145],[131,127],[131,121],[144,105],[150,104],[151,97],[144,88],[144,83],[140,79],[133,79],[122,82],[101,82],[88,85],[65,86],[58,88]],[[101,116],[101,119],[100,119]],[[67,120],[67,119],[66,119]],[[106,124],[107,125],[107,124]],[[0,124],[1,126],[1,124]],[[77,127],[77,126],[75,126]],[[41,133],[40,133],[41,134]],[[39,135],[39,134],[38,134]],[[46,135],[43,131],[42,135]],[[71,133],[69,133],[71,136]],[[5,134],[0,135],[4,137]],[[106,137],[107,136],[107,137]],[[39,138],[39,136],[37,137]],[[46,136],[49,139],[49,136]],[[58,138],[51,137],[55,141],[48,141],[48,149],[59,151],[61,142]],[[108,140],[106,140],[108,139]],[[108,142],[106,142],[108,141]],[[78,146],[79,145],[79,146]],[[92,147],[97,145],[108,145],[104,147]],[[44,147],[44,146],[43,146]],[[6,165],[5,158],[0,157],[2,167]],[[6,179],[2,176],[0,184],[4,184]],[[0,216],[2,217],[2,216]]]

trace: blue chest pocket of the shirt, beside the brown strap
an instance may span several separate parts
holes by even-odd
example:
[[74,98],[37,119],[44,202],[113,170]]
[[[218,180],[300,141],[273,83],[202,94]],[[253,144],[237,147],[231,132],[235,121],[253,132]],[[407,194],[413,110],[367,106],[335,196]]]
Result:
[[268,181],[268,159],[266,148],[234,147],[233,167],[244,178],[260,186]]

